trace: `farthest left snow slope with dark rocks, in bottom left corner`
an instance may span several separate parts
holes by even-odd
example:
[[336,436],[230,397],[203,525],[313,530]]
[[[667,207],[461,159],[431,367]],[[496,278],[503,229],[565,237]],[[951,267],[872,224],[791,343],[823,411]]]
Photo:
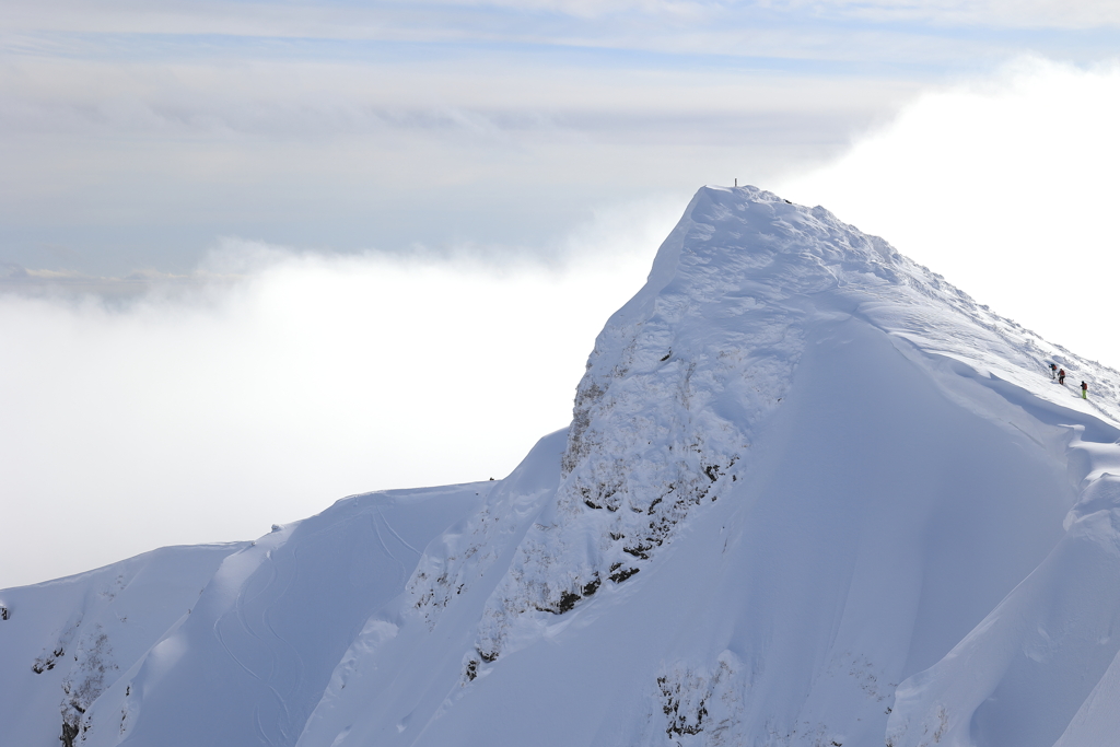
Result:
[[53,745],[77,734],[82,715],[248,545],[162,548],[0,591],[0,744]]

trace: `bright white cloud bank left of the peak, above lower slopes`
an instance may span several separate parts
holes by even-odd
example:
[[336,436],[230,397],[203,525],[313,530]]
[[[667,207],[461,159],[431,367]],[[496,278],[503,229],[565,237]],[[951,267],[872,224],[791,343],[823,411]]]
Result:
[[209,283],[123,306],[0,295],[0,587],[504,477],[569,421],[673,218],[607,212],[552,271],[227,241]]

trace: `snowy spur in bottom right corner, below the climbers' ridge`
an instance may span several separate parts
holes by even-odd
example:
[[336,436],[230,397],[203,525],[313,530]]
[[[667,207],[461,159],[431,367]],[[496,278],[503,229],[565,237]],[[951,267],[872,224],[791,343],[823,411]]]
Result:
[[[1120,430],[1109,436],[1116,441]],[[1085,446],[1072,446],[1089,451],[1082,464],[1091,471],[1065,536],[944,659],[902,683],[889,747],[1070,747],[1120,738],[1116,701],[1090,699],[1120,653],[1120,449]],[[1075,716],[1107,720],[1086,728]],[[1063,737],[1067,725],[1080,738]]]

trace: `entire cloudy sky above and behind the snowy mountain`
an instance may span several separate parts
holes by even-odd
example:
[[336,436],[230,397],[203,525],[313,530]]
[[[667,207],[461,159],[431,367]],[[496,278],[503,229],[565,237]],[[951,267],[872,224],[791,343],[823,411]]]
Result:
[[1114,2],[0,13],[0,587],[502,477],[703,184],[1120,365]]

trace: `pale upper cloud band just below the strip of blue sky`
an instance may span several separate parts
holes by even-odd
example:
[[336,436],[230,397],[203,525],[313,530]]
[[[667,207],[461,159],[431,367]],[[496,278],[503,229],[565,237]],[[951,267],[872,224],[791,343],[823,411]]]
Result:
[[0,127],[91,137],[290,137],[386,130],[486,140],[757,115],[866,116],[918,90],[883,78],[743,75],[725,71],[511,67],[479,59],[448,71],[416,64],[104,63],[18,59],[0,82]]

